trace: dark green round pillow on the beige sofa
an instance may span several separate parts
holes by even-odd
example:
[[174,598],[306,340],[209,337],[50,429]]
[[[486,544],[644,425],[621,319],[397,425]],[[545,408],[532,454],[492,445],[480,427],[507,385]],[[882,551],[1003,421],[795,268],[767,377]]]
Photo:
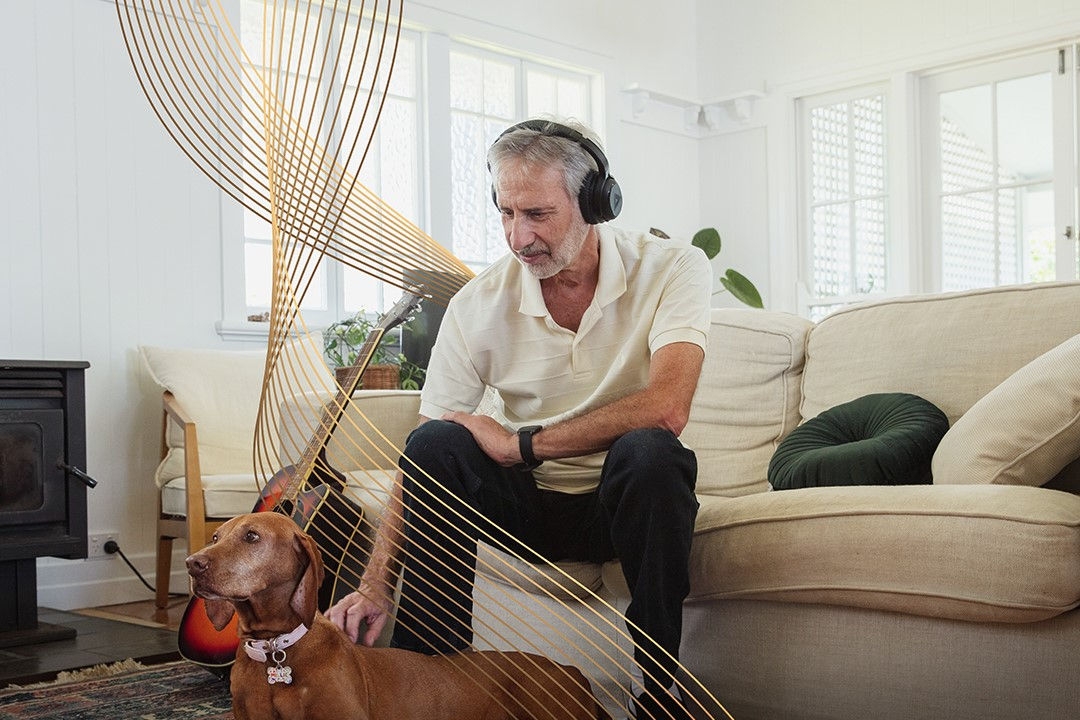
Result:
[[930,483],[948,418],[909,393],[877,393],[825,410],[785,437],[769,461],[774,490]]

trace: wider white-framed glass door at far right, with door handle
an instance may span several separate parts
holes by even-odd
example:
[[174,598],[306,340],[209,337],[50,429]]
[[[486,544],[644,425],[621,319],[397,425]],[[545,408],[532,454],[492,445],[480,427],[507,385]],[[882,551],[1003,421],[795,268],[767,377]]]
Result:
[[1055,231],[1074,212],[1065,59],[1042,51],[923,81],[932,289],[1075,276],[1075,261],[1057,267]]

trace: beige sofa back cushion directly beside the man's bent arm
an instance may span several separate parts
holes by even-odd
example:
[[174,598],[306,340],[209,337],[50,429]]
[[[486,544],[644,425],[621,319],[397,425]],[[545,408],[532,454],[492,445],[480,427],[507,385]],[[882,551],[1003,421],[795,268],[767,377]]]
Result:
[[698,493],[769,489],[769,459],[799,421],[809,321],[747,309],[713,310],[708,350],[680,438],[698,456]]

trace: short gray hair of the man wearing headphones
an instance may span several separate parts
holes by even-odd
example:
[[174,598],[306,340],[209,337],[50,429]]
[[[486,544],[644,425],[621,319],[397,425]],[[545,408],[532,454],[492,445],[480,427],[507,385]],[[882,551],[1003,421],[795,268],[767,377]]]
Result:
[[[593,157],[578,142],[551,134],[558,125],[569,127],[602,147],[590,127],[576,120],[540,119],[540,130],[518,127],[503,134],[487,151],[491,187],[499,187],[500,172],[507,160],[519,160],[526,165],[562,165],[566,192],[577,198],[589,173],[599,169]],[[603,148],[602,148],[603,149]]]

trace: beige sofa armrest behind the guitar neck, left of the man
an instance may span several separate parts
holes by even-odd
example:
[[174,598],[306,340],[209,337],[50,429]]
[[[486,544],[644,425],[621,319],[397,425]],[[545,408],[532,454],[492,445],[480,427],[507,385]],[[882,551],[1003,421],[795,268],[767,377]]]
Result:
[[[283,463],[302,454],[319,427],[323,407],[332,399],[322,393],[303,393],[282,404],[279,433]],[[342,473],[395,467],[419,412],[417,391],[356,391],[329,437],[326,459]]]

